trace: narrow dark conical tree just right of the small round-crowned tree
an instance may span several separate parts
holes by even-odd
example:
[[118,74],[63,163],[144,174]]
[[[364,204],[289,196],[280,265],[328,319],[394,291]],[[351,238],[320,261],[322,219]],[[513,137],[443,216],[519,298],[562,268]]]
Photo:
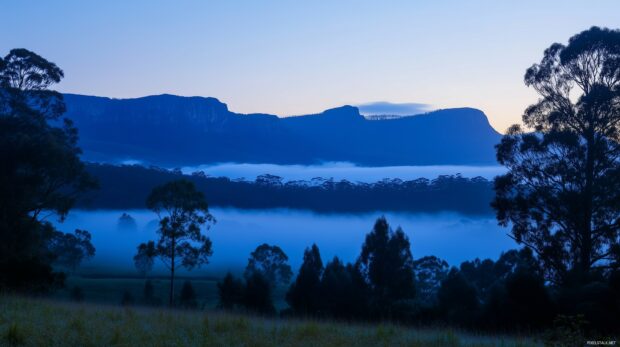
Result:
[[304,261],[295,282],[286,293],[286,302],[301,315],[316,315],[320,309],[320,284],[323,261],[319,247],[313,244],[304,251]]

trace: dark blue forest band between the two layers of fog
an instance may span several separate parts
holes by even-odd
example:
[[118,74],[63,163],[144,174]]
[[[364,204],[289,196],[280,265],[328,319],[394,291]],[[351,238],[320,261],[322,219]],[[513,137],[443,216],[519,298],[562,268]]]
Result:
[[482,177],[439,176],[428,180],[399,179],[376,183],[315,178],[285,182],[261,175],[254,181],[209,177],[203,172],[183,175],[179,170],[138,165],[88,164],[87,171],[99,181],[99,189],[85,194],[84,209],[144,208],[150,191],[165,182],[186,178],[205,193],[209,204],[247,209],[294,208],[316,212],[454,211],[491,214],[493,184]]

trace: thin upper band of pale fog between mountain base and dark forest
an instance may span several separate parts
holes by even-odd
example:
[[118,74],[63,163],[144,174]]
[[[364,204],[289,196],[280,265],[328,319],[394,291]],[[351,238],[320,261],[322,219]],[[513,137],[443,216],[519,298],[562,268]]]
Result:
[[207,175],[229,177],[231,179],[245,178],[254,180],[256,176],[265,173],[283,177],[285,181],[306,180],[314,177],[333,178],[334,180],[347,179],[352,182],[377,182],[384,178],[400,178],[413,180],[416,178],[437,178],[439,175],[456,175],[463,177],[481,176],[487,179],[503,174],[503,166],[384,166],[363,167],[351,163],[325,163],[322,165],[276,165],[276,164],[242,164],[223,163],[214,165],[186,166],[181,168],[183,173],[204,171]]

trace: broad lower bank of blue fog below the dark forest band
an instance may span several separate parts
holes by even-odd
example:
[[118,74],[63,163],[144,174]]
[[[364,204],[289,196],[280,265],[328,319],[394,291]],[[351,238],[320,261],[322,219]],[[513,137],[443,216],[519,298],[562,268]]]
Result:
[[[119,226],[123,212],[135,219],[135,226]],[[211,212],[217,223],[207,234],[213,241],[214,254],[211,263],[192,271],[193,275],[238,271],[261,243],[280,246],[294,270],[301,263],[304,248],[312,243],[319,246],[324,262],[335,255],[354,261],[364,236],[383,214],[323,215],[307,211],[219,208]],[[436,255],[451,265],[458,265],[476,257],[497,258],[502,251],[516,247],[506,236],[508,230],[497,226],[493,216],[390,212],[384,215],[394,229],[400,225],[409,235],[414,258]],[[84,264],[83,271],[127,274],[135,273],[132,257],[136,246],[155,239],[157,219],[148,210],[73,211],[58,227],[63,231],[79,228],[91,232],[97,254]],[[161,265],[159,269],[163,269]]]

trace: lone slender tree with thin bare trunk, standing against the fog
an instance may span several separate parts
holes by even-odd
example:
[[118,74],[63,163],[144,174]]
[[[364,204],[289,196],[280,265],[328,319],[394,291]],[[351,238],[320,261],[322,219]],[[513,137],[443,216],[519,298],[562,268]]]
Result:
[[158,257],[170,270],[169,304],[174,300],[174,274],[177,266],[186,269],[207,264],[213,253],[211,240],[202,229],[208,229],[215,219],[209,213],[204,194],[192,182],[179,180],[153,189],[147,206],[159,217],[159,239],[142,243],[134,256],[140,271],[152,268],[153,257]]

